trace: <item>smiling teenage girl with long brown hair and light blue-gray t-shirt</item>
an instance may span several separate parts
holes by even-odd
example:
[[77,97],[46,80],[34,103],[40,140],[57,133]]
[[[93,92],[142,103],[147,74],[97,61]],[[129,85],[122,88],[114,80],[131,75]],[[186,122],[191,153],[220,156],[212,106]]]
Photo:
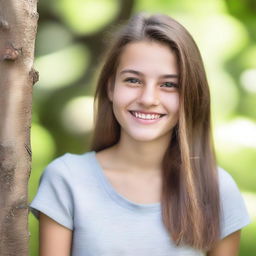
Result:
[[217,167],[199,50],[165,15],[131,18],[96,89],[91,151],[51,162],[31,210],[40,256],[235,256],[249,223]]

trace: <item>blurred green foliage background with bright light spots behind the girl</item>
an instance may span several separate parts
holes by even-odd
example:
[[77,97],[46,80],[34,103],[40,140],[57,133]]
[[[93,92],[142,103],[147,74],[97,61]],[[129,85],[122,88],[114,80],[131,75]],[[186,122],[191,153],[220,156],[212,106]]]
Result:
[[[139,11],[182,23],[204,59],[212,96],[218,163],[242,191],[252,223],[242,256],[256,255],[256,1],[39,1],[29,200],[45,166],[65,152],[88,150],[93,94],[102,55],[116,25]],[[38,255],[38,221],[30,214],[30,255]]]

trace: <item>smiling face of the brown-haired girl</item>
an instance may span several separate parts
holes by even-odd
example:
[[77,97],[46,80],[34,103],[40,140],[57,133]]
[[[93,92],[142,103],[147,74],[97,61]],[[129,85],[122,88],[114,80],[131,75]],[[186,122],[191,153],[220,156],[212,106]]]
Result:
[[165,44],[140,41],[124,48],[108,90],[121,135],[170,138],[178,120],[178,74],[176,55]]

